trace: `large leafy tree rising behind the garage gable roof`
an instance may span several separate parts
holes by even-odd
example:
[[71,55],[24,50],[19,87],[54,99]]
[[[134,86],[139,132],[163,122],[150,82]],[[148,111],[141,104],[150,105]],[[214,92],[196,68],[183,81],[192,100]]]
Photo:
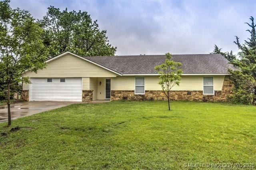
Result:
[[44,44],[53,57],[65,51],[78,55],[114,55],[113,47],[106,36],[106,30],[100,30],[97,20],[93,21],[87,12],[61,11],[50,6],[46,16],[38,21],[44,28]]

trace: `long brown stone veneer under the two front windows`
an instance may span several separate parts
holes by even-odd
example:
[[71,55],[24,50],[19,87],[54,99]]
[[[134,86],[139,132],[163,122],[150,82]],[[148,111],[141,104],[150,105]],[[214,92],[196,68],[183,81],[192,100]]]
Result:
[[[221,91],[215,91],[214,95],[203,95],[203,91],[171,91],[171,100],[189,101],[227,101],[227,95],[231,94],[233,84],[229,76],[225,76]],[[111,100],[167,100],[163,91],[145,91],[144,95],[135,95],[134,90],[112,90]]]

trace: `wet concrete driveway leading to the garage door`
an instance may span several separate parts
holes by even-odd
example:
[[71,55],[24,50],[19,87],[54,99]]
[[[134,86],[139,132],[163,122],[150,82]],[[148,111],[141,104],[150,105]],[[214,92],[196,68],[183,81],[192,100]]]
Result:
[[[31,102],[21,102],[11,105],[11,116],[12,120],[19,117],[34,115],[36,113],[49,111],[59,107],[64,107],[74,103],[82,102],[55,102],[55,101],[31,101]],[[8,120],[7,105],[0,106],[0,122],[5,122]]]

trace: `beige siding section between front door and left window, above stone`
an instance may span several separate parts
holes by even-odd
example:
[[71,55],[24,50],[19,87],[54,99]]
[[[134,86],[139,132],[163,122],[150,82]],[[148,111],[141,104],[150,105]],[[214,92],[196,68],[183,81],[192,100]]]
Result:
[[134,76],[112,77],[111,90],[134,90]]

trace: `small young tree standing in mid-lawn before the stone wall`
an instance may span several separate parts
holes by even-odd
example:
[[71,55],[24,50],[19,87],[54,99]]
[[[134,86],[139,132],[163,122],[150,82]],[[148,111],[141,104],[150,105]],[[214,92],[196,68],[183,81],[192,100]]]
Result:
[[166,60],[164,63],[157,65],[155,70],[160,75],[160,81],[158,84],[161,85],[164,94],[168,100],[168,108],[170,110],[170,91],[174,85],[180,85],[180,79],[182,75],[182,69],[179,67],[182,65],[179,62],[172,60],[172,54],[166,53]]

